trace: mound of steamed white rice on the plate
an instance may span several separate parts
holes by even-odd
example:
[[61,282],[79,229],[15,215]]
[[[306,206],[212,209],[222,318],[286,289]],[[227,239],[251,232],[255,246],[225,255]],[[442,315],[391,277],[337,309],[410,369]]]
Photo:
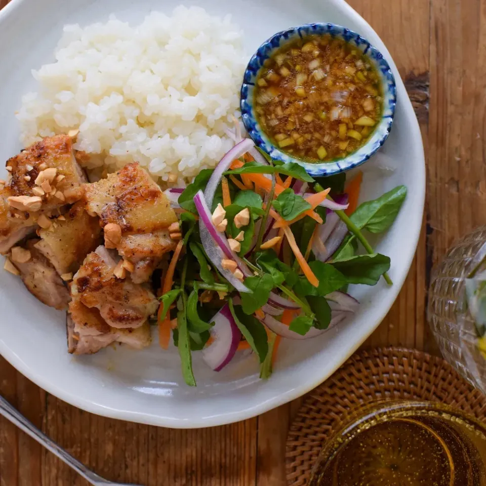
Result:
[[75,148],[93,155],[88,169],[135,160],[182,182],[233,145],[224,130],[239,116],[247,57],[229,16],[181,6],[136,27],[114,17],[67,25],[55,58],[32,71],[38,92],[22,98],[25,146],[79,129]]

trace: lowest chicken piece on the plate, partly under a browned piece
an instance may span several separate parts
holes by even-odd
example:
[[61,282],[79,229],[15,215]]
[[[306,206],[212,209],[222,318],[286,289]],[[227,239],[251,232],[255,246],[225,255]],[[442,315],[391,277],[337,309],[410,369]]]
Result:
[[150,345],[148,322],[137,329],[116,329],[107,325],[96,308],[88,308],[78,300],[69,304],[67,342],[71,354],[93,354],[113,342],[142,349]]

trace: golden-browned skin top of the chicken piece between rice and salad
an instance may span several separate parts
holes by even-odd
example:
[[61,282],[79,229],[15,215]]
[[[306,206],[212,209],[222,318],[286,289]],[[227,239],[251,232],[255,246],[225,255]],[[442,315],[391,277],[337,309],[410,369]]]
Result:
[[151,233],[177,221],[169,199],[138,164],[127,164],[107,179],[85,186],[86,208],[101,225],[116,223],[124,233]]

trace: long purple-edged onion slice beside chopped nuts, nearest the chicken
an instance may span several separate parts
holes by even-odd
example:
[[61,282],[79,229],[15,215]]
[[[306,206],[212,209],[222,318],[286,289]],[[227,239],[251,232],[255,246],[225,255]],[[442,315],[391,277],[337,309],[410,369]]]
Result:
[[[216,226],[213,224],[211,212],[206,204],[203,191],[199,190],[194,196],[194,204],[196,205],[197,212],[199,213],[199,233],[201,236],[201,242],[203,243],[203,247],[208,255],[208,258],[236,290],[240,292],[250,292],[250,290],[244,284],[242,284],[242,282],[235,278],[229,270],[225,270],[221,265],[221,260],[223,258],[235,260],[236,263],[241,262],[241,260],[229,247],[226,235],[218,231]],[[240,269],[244,273],[249,272],[246,265],[241,266]]]

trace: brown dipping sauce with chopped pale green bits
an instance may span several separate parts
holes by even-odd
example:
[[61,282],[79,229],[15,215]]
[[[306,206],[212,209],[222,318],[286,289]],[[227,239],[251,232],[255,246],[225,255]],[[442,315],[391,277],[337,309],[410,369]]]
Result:
[[282,151],[310,162],[346,157],[380,121],[378,72],[356,46],[330,34],[276,51],[255,85],[262,130]]

